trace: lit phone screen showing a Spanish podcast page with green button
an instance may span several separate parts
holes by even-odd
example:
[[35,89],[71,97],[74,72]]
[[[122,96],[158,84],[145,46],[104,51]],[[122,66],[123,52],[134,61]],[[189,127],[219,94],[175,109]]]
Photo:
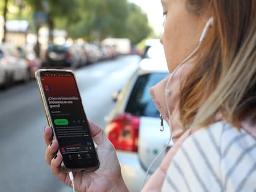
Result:
[[43,72],[41,82],[64,159],[94,158],[93,141],[72,73]]

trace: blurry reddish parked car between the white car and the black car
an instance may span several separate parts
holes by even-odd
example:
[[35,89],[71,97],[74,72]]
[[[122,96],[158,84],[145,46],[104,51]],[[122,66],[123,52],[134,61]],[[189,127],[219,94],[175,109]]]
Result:
[[41,59],[36,56],[36,53],[31,46],[22,46],[18,48],[20,56],[25,59],[30,72],[30,78],[35,78],[36,70],[41,68]]

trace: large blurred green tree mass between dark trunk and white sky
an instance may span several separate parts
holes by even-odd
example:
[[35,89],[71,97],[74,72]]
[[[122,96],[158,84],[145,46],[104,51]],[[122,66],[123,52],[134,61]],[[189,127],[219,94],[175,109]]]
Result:
[[137,44],[152,31],[147,15],[127,0],[82,0],[77,12],[80,20],[68,22],[65,27],[72,38],[101,41],[111,36],[130,38],[133,44]]

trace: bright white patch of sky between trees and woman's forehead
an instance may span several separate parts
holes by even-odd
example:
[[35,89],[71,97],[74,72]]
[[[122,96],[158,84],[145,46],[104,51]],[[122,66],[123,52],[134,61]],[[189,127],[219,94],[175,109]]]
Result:
[[161,31],[163,26],[163,9],[160,0],[129,0],[142,7],[148,15],[148,20],[155,31]]

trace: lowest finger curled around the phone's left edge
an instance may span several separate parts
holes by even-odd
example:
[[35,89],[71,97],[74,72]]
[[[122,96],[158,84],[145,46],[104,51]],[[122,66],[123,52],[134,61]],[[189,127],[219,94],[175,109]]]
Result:
[[51,172],[62,182],[66,182],[67,174],[61,169],[62,155],[60,152],[51,160]]

